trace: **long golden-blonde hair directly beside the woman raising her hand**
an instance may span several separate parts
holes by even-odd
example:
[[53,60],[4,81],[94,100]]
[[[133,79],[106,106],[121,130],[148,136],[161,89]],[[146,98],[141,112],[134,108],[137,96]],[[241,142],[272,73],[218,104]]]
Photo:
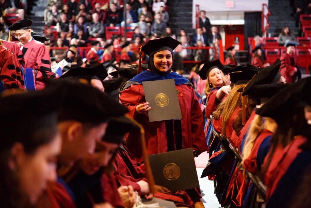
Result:
[[[228,123],[228,120],[230,119],[233,111],[236,109],[236,107],[242,107],[242,93],[238,92],[237,90],[240,88],[245,87],[244,85],[235,85],[229,95],[224,99],[223,102],[221,102],[216,110],[213,112],[213,117],[215,119],[219,119],[220,116],[222,117],[222,134],[227,138],[226,135],[226,126]],[[247,96],[247,95],[245,95]],[[248,100],[248,99],[246,99]]]

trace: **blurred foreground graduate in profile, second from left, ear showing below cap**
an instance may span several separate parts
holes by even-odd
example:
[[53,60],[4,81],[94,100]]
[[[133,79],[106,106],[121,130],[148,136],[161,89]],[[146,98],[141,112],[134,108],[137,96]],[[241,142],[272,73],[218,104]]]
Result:
[[47,191],[47,196],[56,207],[74,207],[74,195],[61,176],[74,162],[95,151],[96,142],[105,134],[109,117],[124,115],[128,110],[100,90],[76,80],[56,80],[47,83],[46,90],[59,94],[58,128],[62,135],[58,183]]

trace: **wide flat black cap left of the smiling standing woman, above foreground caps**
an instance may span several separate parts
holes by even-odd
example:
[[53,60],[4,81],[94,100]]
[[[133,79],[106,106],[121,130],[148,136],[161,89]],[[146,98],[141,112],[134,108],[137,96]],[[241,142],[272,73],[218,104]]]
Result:
[[[95,77],[96,76],[96,77]],[[92,77],[93,79],[104,80],[108,76],[107,70],[103,64],[94,67],[75,67],[65,72],[61,78],[66,77]]]

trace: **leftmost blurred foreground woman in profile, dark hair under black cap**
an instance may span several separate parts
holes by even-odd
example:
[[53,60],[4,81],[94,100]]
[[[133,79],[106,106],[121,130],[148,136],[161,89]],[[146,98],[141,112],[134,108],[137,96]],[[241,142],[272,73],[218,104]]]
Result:
[[[61,136],[57,99],[45,92],[0,98],[0,200],[2,207],[35,207],[56,180]],[[16,128],[16,123],[22,123]]]

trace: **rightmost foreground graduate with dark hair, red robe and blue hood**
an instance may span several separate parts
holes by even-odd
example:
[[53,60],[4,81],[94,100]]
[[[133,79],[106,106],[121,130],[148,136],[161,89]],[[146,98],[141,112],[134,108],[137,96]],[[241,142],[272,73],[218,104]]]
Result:
[[[304,168],[311,162],[308,150],[310,126],[304,114],[305,102],[309,102],[310,99],[309,86],[310,78],[297,81],[273,96],[258,112],[262,116],[276,120],[278,124],[263,164],[264,170],[267,170],[264,181],[267,185],[268,207],[287,206],[291,193],[285,193],[284,188],[295,190],[302,178]],[[292,122],[284,124],[285,120]],[[283,144],[285,144],[284,148]],[[281,200],[280,196],[283,195],[286,198]]]

